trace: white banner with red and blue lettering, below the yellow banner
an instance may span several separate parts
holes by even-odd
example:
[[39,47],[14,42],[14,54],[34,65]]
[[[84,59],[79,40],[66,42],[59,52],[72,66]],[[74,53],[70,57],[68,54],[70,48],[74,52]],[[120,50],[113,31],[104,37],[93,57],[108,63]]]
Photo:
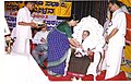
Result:
[[[16,13],[15,11],[5,11],[5,19],[10,28],[16,26]],[[57,20],[57,15],[46,15],[41,13],[33,13],[33,20],[37,22],[45,22],[48,29],[56,27],[63,20]]]

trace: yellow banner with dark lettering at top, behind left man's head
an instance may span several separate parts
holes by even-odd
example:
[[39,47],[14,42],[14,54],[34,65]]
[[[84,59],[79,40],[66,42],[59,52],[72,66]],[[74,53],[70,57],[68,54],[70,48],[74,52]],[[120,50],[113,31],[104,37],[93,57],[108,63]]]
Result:
[[[58,1],[34,1],[35,8],[34,12],[43,13],[47,15],[57,15],[69,17],[71,15],[71,2],[58,2]],[[24,7],[23,1],[5,1],[5,11],[19,11],[19,9]]]

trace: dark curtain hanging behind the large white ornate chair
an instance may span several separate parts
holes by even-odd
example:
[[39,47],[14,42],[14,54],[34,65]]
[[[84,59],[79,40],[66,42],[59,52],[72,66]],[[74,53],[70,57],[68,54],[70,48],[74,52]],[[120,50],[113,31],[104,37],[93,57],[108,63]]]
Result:
[[104,25],[107,15],[108,1],[72,1],[72,14],[80,19],[93,16]]

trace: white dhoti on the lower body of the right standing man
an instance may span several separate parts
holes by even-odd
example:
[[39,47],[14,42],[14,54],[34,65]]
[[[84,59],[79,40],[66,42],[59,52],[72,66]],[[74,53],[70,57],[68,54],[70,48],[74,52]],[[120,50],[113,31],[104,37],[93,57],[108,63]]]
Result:
[[120,71],[120,63],[122,59],[122,50],[123,47],[118,47],[116,45],[108,46],[106,51],[106,56],[103,62],[103,70],[107,70],[106,79],[110,79],[119,74]]

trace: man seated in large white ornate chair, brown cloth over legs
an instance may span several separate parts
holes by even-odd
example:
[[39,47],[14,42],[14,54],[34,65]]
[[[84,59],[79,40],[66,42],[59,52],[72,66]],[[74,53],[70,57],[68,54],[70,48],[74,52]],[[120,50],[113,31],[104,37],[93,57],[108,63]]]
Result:
[[93,51],[88,31],[83,31],[81,45],[82,48],[72,49],[68,68],[68,74],[78,77],[86,75],[90,63],[93,61],[90,57]]

